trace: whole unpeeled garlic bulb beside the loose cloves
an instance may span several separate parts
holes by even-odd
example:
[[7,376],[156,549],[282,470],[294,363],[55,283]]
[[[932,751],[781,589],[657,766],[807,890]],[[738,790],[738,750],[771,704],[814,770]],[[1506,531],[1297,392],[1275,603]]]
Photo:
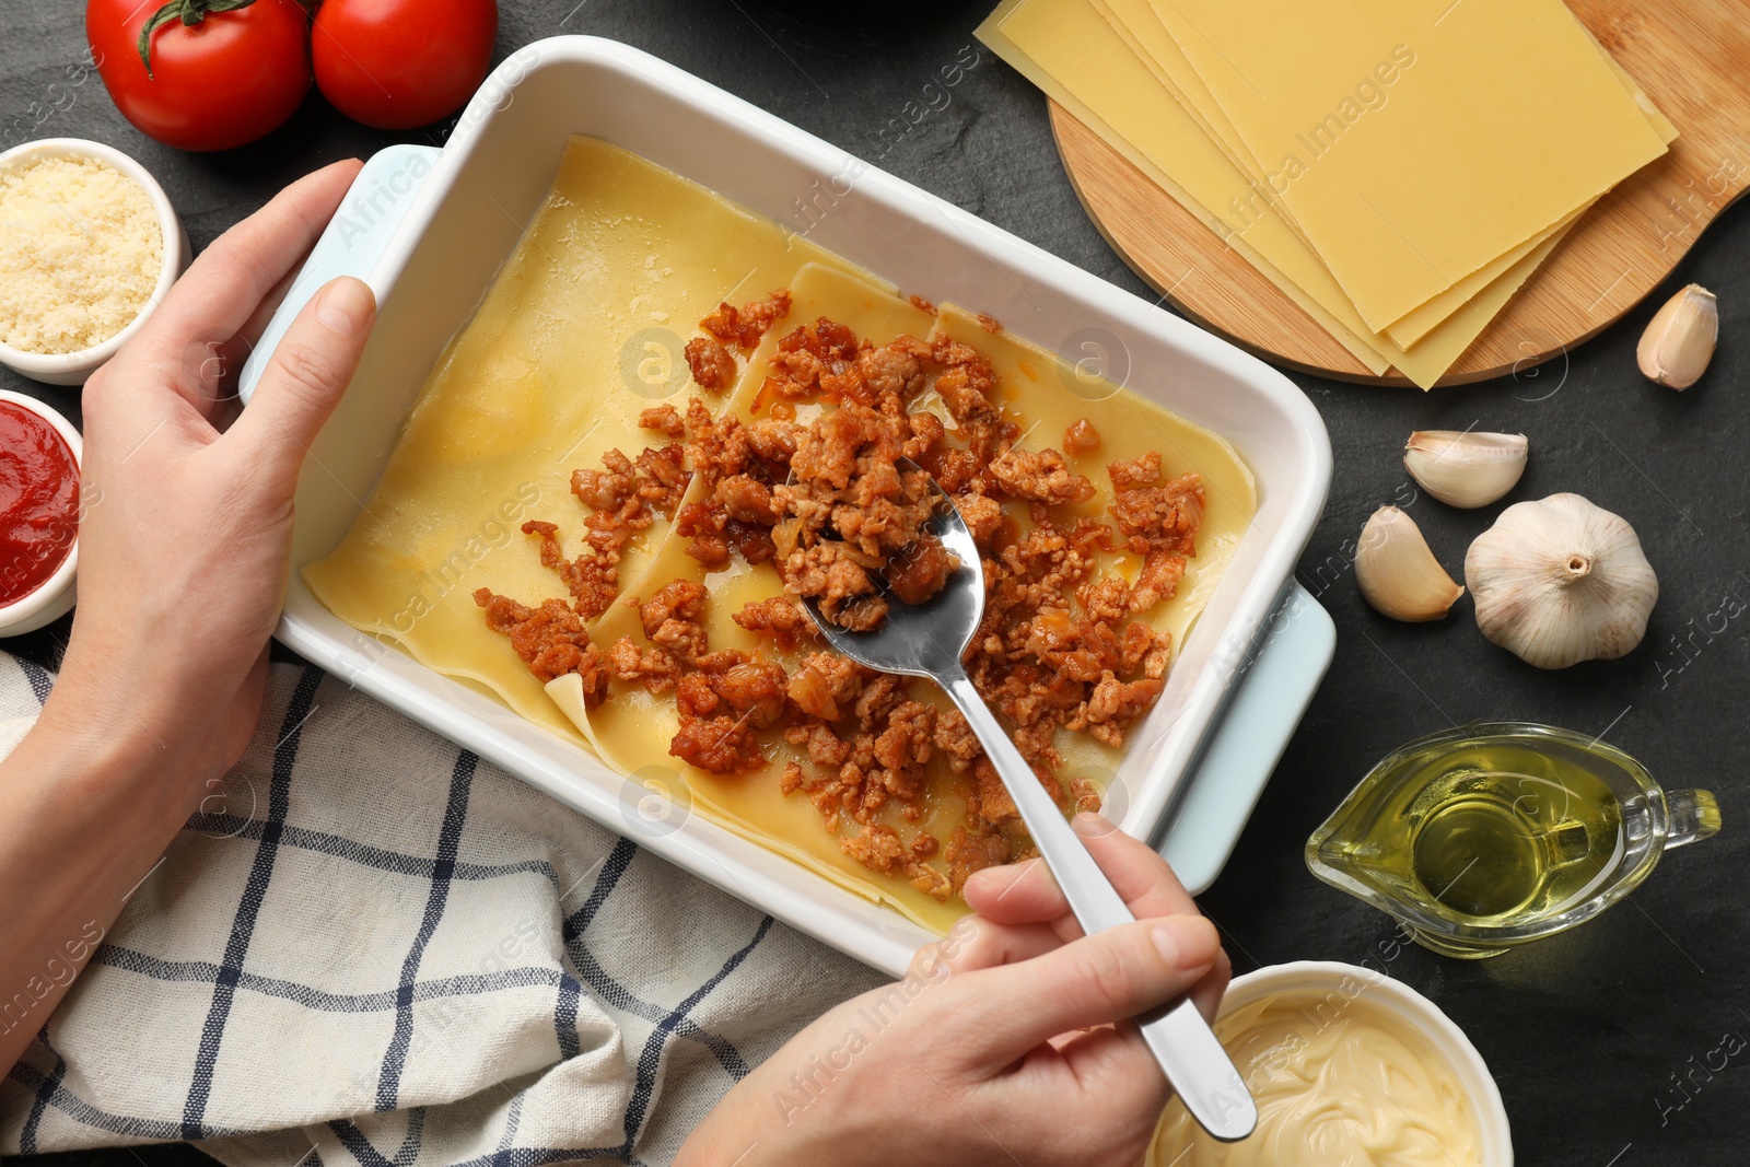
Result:
[[1470,544],[1465,583],[1482,635],[1538,668],[1622,656],[1659,598],[1634,528],[1580,495],[1502,511]]

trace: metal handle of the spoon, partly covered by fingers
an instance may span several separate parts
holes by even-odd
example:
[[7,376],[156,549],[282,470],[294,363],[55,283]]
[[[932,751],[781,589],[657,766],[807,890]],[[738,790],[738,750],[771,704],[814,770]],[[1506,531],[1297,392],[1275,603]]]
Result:
[[[971,679],[956,670],[942,677],[942,684],[984,744],[990,765],[996,766],[1022,822],[1027,824],[1027,833],[1032,835],[1032,843],[1045,857],[1057,885],[1064,889],[1082,931],[1097,933],[1132,922],[1136,917],[1130,915],[1130,908],[1094,863],[1094,856],[1052,796],[1045,793],[1032,766],[1015,749]],[[1185,1102],[1185,1109],[1204,1130],[1223,1141],[1251,1134],[1258,1125],[1258,1108],[1227,1050],[1190,997],[1153,1010],[1136,1018],[1136,1024],[1167,1081]]]

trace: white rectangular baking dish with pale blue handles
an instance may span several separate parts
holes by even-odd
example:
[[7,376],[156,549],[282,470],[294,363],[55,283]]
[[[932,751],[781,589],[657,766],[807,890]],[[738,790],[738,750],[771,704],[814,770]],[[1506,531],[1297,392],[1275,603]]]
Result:
[[[900,287],[996,315],[1018,336],[1076,357],[1088,339],[1127,353],[1130,388],[1234,443],[1258,478],[1256,520],[1167,691],[1130,731],[1108,798],[1120,824],[1143,838],[1160,836],[1171,807],[1180,817],[1195,810],[1195,821],[1174,826],[1181,843],[1169,840],[1167,856],[1181,863],[1188,885],[1208,885],[1330,661],[1328,618],[1290,581],[1330,483],[1330,443],[1312,404],[1232,345],[609,40],[527,45],[494,72],[441,152],[392,147],[373,157],[245,366],[247,399],[285,322],[327,278],[352,273],[376,289],[382,310],[364,362],[299,483],[278,637],[553,798],[868,964],[898,973],[928,940],[898,913],[696,815],[640,812],[649,798],[642,787],[481,691],[357,633],[296,572],[345,535],[438,353],[469,320],[541,206],[567,136],[578,133],[791,222]],[[1227,730],[1213,735],[1241,677],[1244,693],[1232,702]],[[1199,763],[1194,796],[1174,803]]]

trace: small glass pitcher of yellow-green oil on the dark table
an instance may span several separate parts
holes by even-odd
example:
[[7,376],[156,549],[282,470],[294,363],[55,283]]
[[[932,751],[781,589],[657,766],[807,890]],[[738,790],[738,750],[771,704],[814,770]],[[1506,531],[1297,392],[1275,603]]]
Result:
[[1708,791],[1664,791],[1596,738],[1484,723],[1410,742],[1307,840],[1312,875],[1479,959],[1598,915],[1671,847],[1710,838]]

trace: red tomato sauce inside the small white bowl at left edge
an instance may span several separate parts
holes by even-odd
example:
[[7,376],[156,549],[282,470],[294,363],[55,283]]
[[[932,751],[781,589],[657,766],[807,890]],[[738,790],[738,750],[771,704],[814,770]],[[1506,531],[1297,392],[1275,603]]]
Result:
[[49,581],[79,539],[79,464],[60,430],[0,401],[0,605]]

